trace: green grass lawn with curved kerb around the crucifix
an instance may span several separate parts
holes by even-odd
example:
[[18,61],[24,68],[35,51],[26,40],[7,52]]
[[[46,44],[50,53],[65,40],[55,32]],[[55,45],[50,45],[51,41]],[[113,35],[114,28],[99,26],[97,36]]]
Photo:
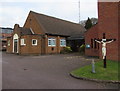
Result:
[[118,65],[120,62],[107,60],[107,68],[103,68],[103,61],[98,61],[95,62],[96,73],[92,73],[92,66],[88,65],[72,71],[71,74],[77,77],[118,81]]

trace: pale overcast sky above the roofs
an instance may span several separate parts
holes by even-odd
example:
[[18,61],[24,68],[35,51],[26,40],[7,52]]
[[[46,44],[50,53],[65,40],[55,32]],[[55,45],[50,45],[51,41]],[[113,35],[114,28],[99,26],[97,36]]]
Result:
[[[22,27],[30,10],[79,22],[79,0],[0,0],[0,27]],[[97,0],[80,0],[80,19],[98,17]]]

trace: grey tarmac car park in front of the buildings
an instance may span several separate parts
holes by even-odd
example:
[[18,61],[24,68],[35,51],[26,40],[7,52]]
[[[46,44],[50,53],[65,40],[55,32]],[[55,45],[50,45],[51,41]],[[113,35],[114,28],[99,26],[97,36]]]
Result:
[[91,63],[77,53],[20,56],[2,53],[3,89],[118,89],[118,84],[75,79],[69,73]]

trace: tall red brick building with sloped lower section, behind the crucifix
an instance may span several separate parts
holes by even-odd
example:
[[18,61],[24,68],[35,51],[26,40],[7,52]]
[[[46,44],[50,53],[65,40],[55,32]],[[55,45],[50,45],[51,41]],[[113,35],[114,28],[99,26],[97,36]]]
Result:
[[116,41],[107,44],[107,59],[120,61],[120,2],[98,2],[98,24],[85,33],[85,54],[102,58],[101,44],[94,39],[102,39],[105,33],[107,39]]

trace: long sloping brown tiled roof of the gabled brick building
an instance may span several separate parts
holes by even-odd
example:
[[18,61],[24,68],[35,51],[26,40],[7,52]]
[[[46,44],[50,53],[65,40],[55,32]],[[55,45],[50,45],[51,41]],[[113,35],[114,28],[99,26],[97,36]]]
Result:
[[38,21],[40,25],[44,28],[46,34],[52,35],[64,35],[64,36],[75,36],[84,34],[86,31],[85,28],[76,23],[58,19],[55,17],[39,14],[33,11],[30,11]]

